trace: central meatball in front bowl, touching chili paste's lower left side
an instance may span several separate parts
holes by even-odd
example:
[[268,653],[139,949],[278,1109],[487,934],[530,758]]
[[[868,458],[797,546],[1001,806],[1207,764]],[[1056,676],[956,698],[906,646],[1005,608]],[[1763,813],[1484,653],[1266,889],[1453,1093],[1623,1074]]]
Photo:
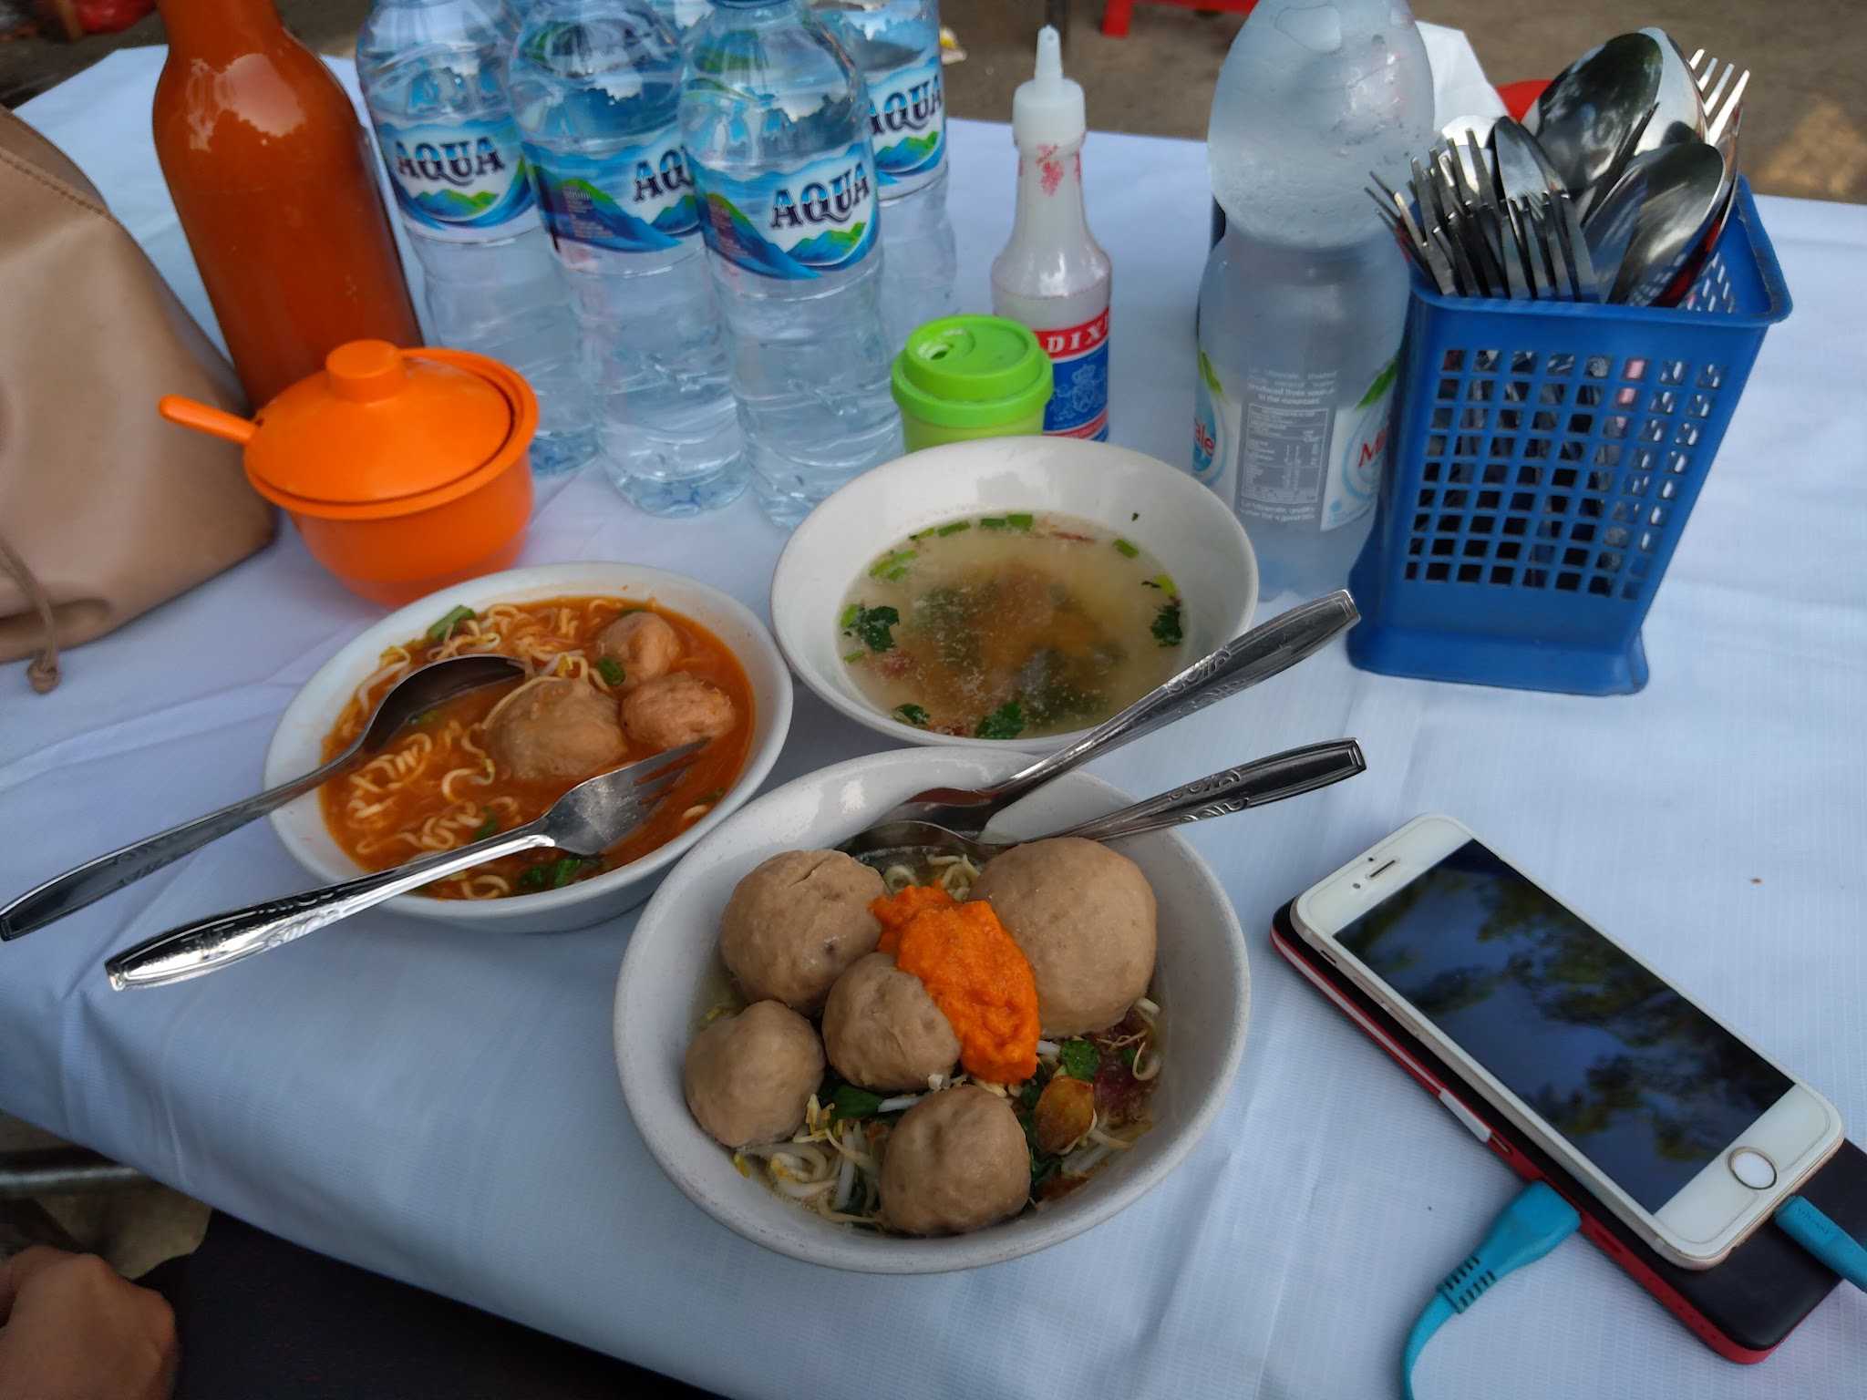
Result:
[[926,1088],[952,1070],[960,1038],[913,973],[872,952],[849,965],[823,1004],[823,1051],[863,1088]]

